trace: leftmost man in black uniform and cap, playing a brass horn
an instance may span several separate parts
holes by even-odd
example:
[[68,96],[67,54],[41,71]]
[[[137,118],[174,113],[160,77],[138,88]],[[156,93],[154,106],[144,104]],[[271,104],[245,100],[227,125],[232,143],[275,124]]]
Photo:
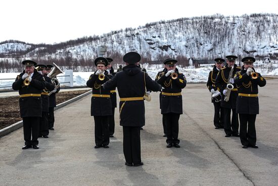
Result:
[[42,111],[40,94],[45,87],[45,81],[42,75],[34,68],[36,62],[25,60],[22,64],[25,66],[25,70],[20,73],[13,83],[13,89],[19,91],[20,117],[23,119],[25,145],[22,149],[32,146],[34,149],[38,149],[37,138]]

